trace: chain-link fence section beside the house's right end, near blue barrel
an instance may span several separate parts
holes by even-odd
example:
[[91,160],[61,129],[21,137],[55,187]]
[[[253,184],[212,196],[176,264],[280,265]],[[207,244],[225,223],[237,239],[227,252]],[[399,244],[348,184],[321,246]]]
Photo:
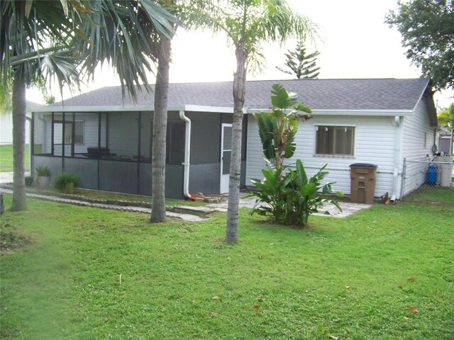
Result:
[[453,157],[433,161],[404,159],[402,200],[454,205]]

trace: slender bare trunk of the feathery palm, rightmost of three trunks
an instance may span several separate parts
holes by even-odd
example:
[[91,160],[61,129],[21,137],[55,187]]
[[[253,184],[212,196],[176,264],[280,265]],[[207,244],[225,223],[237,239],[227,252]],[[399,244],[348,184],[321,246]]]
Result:
[[241,131],[246,84],[247,53],[241,45],[236,47],[236,72],[233,75],[233,124],[230,177],[228,181],[228,212],[226,242],[238,241],[238,207],[240,203]]

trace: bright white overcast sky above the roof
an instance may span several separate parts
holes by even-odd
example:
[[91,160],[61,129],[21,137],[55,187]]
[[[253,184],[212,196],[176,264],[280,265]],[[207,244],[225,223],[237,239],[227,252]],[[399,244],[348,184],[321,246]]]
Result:
[[[384,17],[397,8],[397,0],[287,0],[287,3],[309,18],[318,27],[319,38],[307,42],[308,52],[318,50],[319,79],[338,78],[418,78],[419,69],[405,57],[402,36],[397,29],[389,28]],[[285,45],[265,44],[266,64],[262,72],[248,74],[248,80],[292,79],[276,66],[284,67],[287,50],[294,50],[295,40]],[[170,82],[232,81],[236,69],[235,52],[223,35],[178,30],[172,40]],[[153,74],[149,81],[154,82]],[[114,71],[99,69],[95,81],[84,86],[87,92],[103,86],[119,85]],[[60,94],[52,89],[57,101]],[[65,91],[63,98],[71,94]],[[246,94],[247,96],[247,94]],[[304,101],[304,94],[300,95]],[[435,94],[439,108],[454,101],[454,91]],[[28,91],[28,100],[40,102],[38,91]]]

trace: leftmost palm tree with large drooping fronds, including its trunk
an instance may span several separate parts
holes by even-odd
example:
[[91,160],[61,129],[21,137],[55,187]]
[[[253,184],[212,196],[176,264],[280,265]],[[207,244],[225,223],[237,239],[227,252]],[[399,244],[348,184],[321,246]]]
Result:
[[[26,87],[36,77],[64,84],[94,73],[100,62],[116,69],[123,89],[135,99],[138,85],[150,86],[151,30],[170,35],[175,18],[151,0],[0,1],[0,79],[13,79],[13,203],[26,209],[23,166]],[[142,88],[139,87],[140,91]]]

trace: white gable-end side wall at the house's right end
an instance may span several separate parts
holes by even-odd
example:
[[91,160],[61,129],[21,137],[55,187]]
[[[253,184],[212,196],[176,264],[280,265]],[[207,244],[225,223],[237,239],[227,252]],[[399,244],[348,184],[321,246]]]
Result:
[[[428,161],[432,157],[436,132],[435,128],[431,127],[424,99],[416,105],[413,115],[404,118],[402,135],[403,158],[408,161]],[[427,164],[412,163],[411,166],[417,169],[406,169],[406,173],[412,175],[404,179],[404,196],[426,181]]]

